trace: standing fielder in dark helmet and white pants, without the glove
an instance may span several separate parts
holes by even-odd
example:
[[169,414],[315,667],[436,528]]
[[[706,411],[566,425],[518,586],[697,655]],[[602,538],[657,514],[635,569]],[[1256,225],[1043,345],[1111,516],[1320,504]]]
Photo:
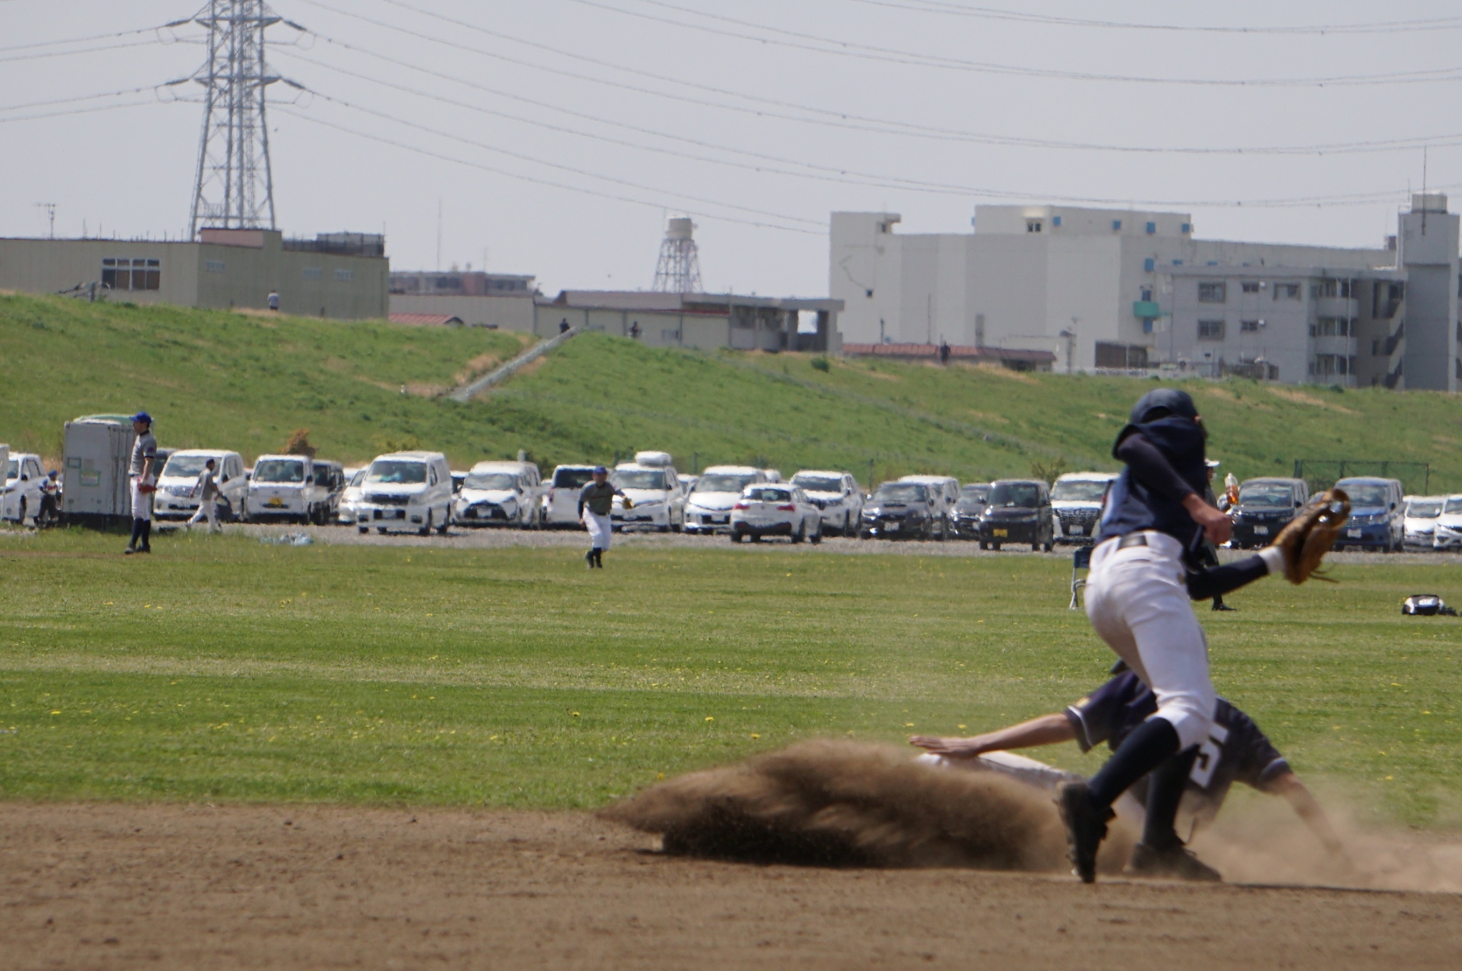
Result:
[[1269,548],[1237,564],[1200,569],[1206,539],[1221,545],[1232,526],[1205,501],[1208,434],[1193,399],[1156,388],[1132,409],[1113,456],[1126,469],[1102,511],[1086,580],[1086,616],[1096,634],[1152,689],[1155,708],[1136,724],[1089,781],[1060,787],[1076,875],[1096,879],[1096,848],[1113,803],[1148,777],[1143,840],[1129,870],[1145,876],[1216,880],[1177,837],[1174,819],[1200,749],[1213,732],[1218,695],[1209,679],[1208,642],[1192,599],[1209,599],[1284,569]]

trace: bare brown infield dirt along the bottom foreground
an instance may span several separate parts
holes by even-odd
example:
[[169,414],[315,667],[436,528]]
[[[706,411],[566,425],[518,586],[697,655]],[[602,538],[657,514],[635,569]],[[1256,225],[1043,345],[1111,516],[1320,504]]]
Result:
[[658,853],[582,813],[0,805],[31,968],[1455,968],[1462,897]]

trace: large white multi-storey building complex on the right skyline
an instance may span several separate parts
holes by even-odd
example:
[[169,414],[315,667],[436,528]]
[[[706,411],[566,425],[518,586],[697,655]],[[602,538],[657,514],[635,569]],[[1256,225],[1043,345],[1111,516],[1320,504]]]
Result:
[[[1398,378],[1392,385],[1455,388],[1455,368],[1462,368],[1455,365],[1458,225],[1456,218],[1444,212],[1444,197],[1428,196],[1427,200],[1423,204],[1418,197],[1415,212],[1402,216],[1399,248],[1376,250],[1197,239],[1192,218],[1184,213],[977,206],[971,234],[899,234],[895,231],[901,220],[896,213],[833,213],[829,293],[844,301],[839,330],[848,343],[947,342],[1044,350],[1056,355],[1058,371],[1140,371],[1168,364],[1192,365],[1203,372],[1203,365],[1216,369],[1222,355],[1225,365],[1243,361],[1263,369],[1265,377],[1272,371],[1262,365],[1278,366],[1275,380],[1326,384],[1336,374],[1336,355],[1344,352],[1344,383],[1355,384],[1349,358],[1360,358],[1358,349],[1306,342],[1310,324],[1319,326],[1320,317],[1360,318],[1360,298],[1347,298],[1347,308],[1327,308],[1322,298],[1311,302],[1308,295],[1314,285],[1320,285],[1323,293],[1329,279],[1366,277],[1385,280],[1387,286],[1399,282],[1405,288],[1409,275],[1414,286],[1425,277],[1430,295],[1420,304],[1412,296],[1405,311],[1408,323],[1402,339],[1412,340],[1392,340],[1390,353],[1373,356],[1389,362],[1399,353],[1399,362],[1408,353],[1420,355],[1417,349],[1424,346],[1430,366],[1406,358],[1402,365],[1406,380]],[[1427,206],[1440,206],[1440,212],[1430,212]],[[1421,237],[1424,212],[1430,228]],[[1225,267],[1246,270],[1232,275],[1235,296],[1246,295],[1244,282],[1301,285],[1301,308],[1285,305],[1278,314],[1262,317],[1265,337],[1285,330],[1282,339],[1273,337],[1273,353],[1269,345],[1251,348],[1253,331],[1246,331],[1243,321],[1260,317],[1250,311],[1244,311],[1247,317],[1238,315],[1238,301],[1232,308],[1232,349],[1199,346],[1212,342],[1197,340],[1196,288],[1199,280],[1227,283]],[[1376,272],[1383,267],[1390,273]],[[1443,285],[1450,286],[1450,301],[1440,296]],[[1184,288],[1193,289],[1192,307]],[[1273,291],[1265,293],[1272,299]],[[1294,310],[1298,315],[1289,314]],[[1385,336],[1379,334],[1379,324],[1368,327],[1366,350],[1370,352],[1371,339],[1385,349],[1386,340],[1396,337],[1396,323]],[[1377,330],[1377,336],[1371,337],[1371,330]],[[1349,336],[1349,326],[1347,331]],[[1224,333],[1227,340],[1227,326]],[[1420,342],[1415,340],[1418,333],[1425,334]],[[1361,337],[1349,340],[1355,345]],[[1275,365],[1269,359],[1275,355],[1284,356],[1284,362]],[[1319,372],[1323,368],[1319,355],[1330,355],[1329,374]],[[1260,356],[1266,361],[1256,365]],[[1380,361],[1357,364],[1364,384],[1371,384],[1376,374],[1395,371],[1380,371]]]

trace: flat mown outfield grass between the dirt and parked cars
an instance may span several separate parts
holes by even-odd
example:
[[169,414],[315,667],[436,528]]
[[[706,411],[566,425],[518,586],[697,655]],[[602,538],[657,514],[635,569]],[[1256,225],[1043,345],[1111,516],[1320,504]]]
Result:
[[[1111,661],[1064,558],[117,546],[0,537],[3,797],[588,807],[795,739],[991,729]],[[1462,625],[1398,610],[1456,567],[1335,575],[1205,613],[1215,680],[1301,774],[1459,825]]]

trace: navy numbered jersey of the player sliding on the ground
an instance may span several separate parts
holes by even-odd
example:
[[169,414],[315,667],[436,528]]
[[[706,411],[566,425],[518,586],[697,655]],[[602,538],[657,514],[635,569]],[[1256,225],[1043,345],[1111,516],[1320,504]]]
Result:
[[[1135,673],[1123,672],[1069,707],[1066,718],[1076,729],[1082,752],[1102,742],[1116,751],[1156,710],[1152,689]],[[1208,740],[1199,745],[1187,788],[1199,797],[1199,815],[1212,816],[1235,781],[1262,790],[1288,771],[1289,764],[1254,720],[1219,698],[1213,727]]]

